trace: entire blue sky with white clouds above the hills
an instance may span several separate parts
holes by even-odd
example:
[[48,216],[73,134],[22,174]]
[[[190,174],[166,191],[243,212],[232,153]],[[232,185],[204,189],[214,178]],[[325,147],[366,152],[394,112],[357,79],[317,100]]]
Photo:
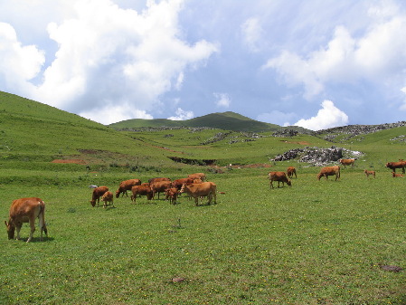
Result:
[[108,125],[406,118],[402,0],[2,0],[0,91]]

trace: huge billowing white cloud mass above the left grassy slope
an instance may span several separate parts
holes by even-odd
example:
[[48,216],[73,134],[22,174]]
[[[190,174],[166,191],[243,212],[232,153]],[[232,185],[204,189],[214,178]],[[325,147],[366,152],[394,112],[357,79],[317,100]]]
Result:
[[7,73],[25,81],[27,97],[62,110],[103,121],[109,114],[145,118],[165,92],[180,90],[184,70],[203,66],[217,52],[213,43],[183,40],[178,14],[184,0],[147,1],[140,13],[111,0],[71,4],[70,18],[48,24],[58,50],[35,86],[29,80],[41,75],[43,53],[19,44],[12,29],[3,26],[2,31],[13,41],[7,45],[14,45],[2,52],[2,68],[6,62],[18,62]]

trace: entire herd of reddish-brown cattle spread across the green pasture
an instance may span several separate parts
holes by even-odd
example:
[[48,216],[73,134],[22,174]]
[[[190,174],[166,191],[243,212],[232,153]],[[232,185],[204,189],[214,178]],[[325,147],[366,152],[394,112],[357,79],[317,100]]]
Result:
[[[356,159],[340,159],[339,162],[342,166],[354,167],[354,162]],[[396,174],[396,168],[401,168],[402,173],[405,174],[406,161],[400,159],[399,162],[388,162],[385,167],[392,169],[392,176],[403,176],[401,174]],[[375,176],[374,171],[364,170],[365,176]],[[268,177],[270,180],[270,188],[273,188],[273,182],[278,182],[278,187],[280,182],[282,186],[286,183],[291,186],[290,179],[295,176],[297,177],[297,171],[295,167],[288,167],[287,172],[273,171],[269,172]],[[320,180],[321,177],[325,176],[335,176],[335,180],[340,177],[340,167],[322,167],[320,172],[317,174],[317,179]],[[131,191],[131,201],[136,203],[137,196],[146,195],[147,200],[153,199],[156,194],[165,193],[165,199],[173,205],[176,205],[177,196],[182,193],[194,198],[194,204],[198,205],[199,198],[201,202],[203,197],[208,198],[208,204],[212,202],[212,197],[214,197],[214,204],[216,204],[216,193],[217,186],[210,182],[205,181],[206,176],[203,173],[196,173],[187,176],[186,178],[176,179],[171,181],[169,178],[152,178],[147,183],[141,183],[139,179],[130,179],[123,181],[119,184],[118,190],[116,191],[116,198],[120,195],[127,195],[127,191]],[[128,196],[128,195],[127,195]],[[99,201],[104,203],[103,206],[113,205],[114,195],[109,191],[107,186],[95,186],[92,192],[90,204],[92,206],[99,205]],[[41,228],[41,240],[42,232],[48,236],[48,231],[44,219],[45,204],[42,199],[37,197],[27,197],[20,198],[13,201],[10,207],[8,223],[5,221],[5,226],[7,228],[7,234],[9,239],[14,239],[15,231],[17,231],[16,239],[20,238],[20,230],[24,223],[30,223],[31,233],[27,240],[30,242],[33,238],[33,232],[35,231],[35,219],[39,219],[39,226]]]

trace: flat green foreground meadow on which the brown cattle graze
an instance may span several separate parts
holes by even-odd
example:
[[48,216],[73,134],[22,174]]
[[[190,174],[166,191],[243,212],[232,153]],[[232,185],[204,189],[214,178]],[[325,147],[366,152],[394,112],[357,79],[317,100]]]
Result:
[[202,206],[185,197],[89,203],[91,182],[115,191],[125,178],[175,179],[184,169],[96,176],[71,168],[58,171],[59,183],[49,169],[32,172],[42,183],[2,180],[3,218],[13,199],[39,196],[49,236],[40,242],[37,231],[24,243],[27,224],[21,241],[4,231],[0,303],[404,304],[405,272],[381,266],[406,266],[405,180],[384,167],[367,179],[357,165],[339,181],[317,181],[318,167],[296,166],[292,186],[272,190],[269,168],[208,172],[225,194]]

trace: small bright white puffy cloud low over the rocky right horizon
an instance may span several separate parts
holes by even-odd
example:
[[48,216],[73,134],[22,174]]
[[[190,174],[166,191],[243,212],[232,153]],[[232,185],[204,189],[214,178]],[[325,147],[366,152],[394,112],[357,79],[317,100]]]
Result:
[[295,126],[300,126],[305,129],[320,130],[330,129],[337,126],[345,126],[348,124],[348,116],[344,111],[335,107],[333,101],[324,100],[321,104],[322,109],[318,110],[316,117],[310,119],[300,119]]

